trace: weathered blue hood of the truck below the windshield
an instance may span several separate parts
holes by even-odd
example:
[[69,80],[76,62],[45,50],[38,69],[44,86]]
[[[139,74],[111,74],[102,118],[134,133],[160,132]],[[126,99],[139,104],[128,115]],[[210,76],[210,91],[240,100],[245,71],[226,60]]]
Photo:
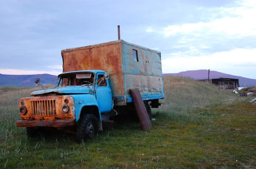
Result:
[[87,86],[68,86],[57,87],[54,89],[39,90],[31,93],[31,96],[47,94],[47,93],[61,93],[61,94],[89,94],[92,90]]

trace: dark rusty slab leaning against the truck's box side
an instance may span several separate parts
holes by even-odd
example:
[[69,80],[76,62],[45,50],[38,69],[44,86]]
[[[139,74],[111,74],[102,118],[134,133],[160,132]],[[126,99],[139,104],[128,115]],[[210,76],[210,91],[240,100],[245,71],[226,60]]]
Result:
[[130,89],[130,92],[131,92],[131,97],[133,100],[135,110],[140,119],[140,124],[142,126],[142,129],[143,130],[151,129],[152,124],[148,117],[148,113],[147,113],[145,104],[143,102],[142,96],[140,94],[140,91],[138,89]]

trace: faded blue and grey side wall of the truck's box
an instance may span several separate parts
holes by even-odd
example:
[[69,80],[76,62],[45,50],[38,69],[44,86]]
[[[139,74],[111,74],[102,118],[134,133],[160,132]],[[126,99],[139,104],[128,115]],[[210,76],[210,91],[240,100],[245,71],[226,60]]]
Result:
[[[134,61],[133,50],[138,51],[138,62]],[[126,102],[132,102],[132,88],[140,90],[143,100],[163,99],[161,53],[128,42],[122,43],[122,52]],[[158,88],[151,87],[152,84]]]

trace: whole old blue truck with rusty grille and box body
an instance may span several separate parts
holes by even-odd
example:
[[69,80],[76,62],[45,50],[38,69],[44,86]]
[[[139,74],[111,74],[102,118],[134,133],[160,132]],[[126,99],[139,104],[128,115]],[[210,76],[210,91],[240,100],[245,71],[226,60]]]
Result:
[[[20,99],[17,127],[30,136],[58,128],[76,133],[76,141],[93,138],[102,121],[136,118],[130,89],[138,89],[149,118],[164,98],[160,52],[123,40],[61,51],[63,73],[54,89]],[[150,107],[151,106],[151,107]]]

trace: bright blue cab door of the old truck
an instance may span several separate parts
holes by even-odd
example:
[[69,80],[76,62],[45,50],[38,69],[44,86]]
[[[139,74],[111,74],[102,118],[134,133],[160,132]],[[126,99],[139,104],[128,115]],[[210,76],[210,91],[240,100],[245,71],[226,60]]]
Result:
[[[108,80],[104,79],[105,73],[97,73],[96,79],[96,99],[99,104],[99,110],[101,113],[109,112],[112,110],[112,93],[111,88],[109,87]],[[102,80],[102,78],[104,80]]]

